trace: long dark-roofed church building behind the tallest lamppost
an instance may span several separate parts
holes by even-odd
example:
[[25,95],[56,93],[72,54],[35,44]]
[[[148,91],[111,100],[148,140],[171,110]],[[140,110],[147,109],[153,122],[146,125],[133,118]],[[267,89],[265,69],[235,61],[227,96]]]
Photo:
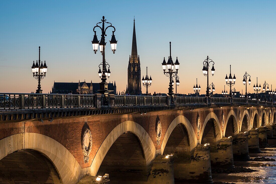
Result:
[[[99,83],[90,83],[84,82],[55,82],[52,86],[50,93],[52,94],[68,94],[70,91],[75,94],[76,89],[78,89],[80,94],[99,94],[98,90],[100,89]],[[116,94],[116,82],[108,83],[108,90],[113,90],[110,94]]]

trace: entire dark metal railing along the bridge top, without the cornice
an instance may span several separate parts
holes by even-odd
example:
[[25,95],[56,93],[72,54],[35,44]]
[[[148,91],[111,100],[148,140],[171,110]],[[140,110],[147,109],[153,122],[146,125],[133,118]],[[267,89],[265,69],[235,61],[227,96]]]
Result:
[[[176,97],[176,104],[169,103],[168,98],[170,97],[115,95],[114,106],[208,105],[207,97]],[[0,93],[0,110],[94,108],[95,101],[95,95]],[[209,103],[231,104],[231,98],[211,97]],[[232,98],[232,103],[276,106],[274,102],[245,98]]]

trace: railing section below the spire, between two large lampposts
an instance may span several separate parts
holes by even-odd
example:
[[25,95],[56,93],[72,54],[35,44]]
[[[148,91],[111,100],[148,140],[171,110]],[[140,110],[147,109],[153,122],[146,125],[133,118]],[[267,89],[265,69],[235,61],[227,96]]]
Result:
[[115,106],[168,105],[164,96],[115,95]]

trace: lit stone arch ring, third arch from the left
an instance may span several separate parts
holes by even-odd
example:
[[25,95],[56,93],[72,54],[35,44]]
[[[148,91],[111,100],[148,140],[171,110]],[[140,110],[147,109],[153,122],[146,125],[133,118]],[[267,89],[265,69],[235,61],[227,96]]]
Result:
[[163,155],[164,149],[166,147],[166,144],[169,140],[169,137],[172,133],[172,131],[174,130],[174,128],[176,126],[178,126],[179,124],[183,124],[184,127],[187,130],[187,133],[189,135],[189,143],[190,143],[190,150],[191,152],[195,149],[195,147],[197,146],[197,137],[195,135],[195,131],[193,129],[192,124],[190,123],[190,121],[183,115],[177,116],[176,118],[174,118],[174,120],[171,122],[171,124],[169,125],[166,134],[163,138],[162,144],[161,144],[161,148],[160,148],[160,153],[161,155]]

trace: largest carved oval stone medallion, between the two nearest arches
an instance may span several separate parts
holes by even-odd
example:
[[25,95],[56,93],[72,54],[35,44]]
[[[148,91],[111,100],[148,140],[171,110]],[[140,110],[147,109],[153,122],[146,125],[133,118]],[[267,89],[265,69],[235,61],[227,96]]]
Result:
[[83,129],[81,130],[81,149],[83,151],[84,163],[89,162],[89,154],[92,148],[92,134],[87,122],[84,123]]

